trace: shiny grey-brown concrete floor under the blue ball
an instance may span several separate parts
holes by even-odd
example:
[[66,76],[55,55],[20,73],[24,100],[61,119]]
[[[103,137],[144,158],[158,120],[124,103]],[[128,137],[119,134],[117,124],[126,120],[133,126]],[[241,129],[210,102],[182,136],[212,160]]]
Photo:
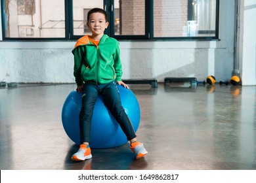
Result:
[[136,160],[127,143],[81,162],[70,160],[78,146],[61,120],[74,84],[1,88],[0,169],[256,169],[256,86],[130,87],[148,155]]

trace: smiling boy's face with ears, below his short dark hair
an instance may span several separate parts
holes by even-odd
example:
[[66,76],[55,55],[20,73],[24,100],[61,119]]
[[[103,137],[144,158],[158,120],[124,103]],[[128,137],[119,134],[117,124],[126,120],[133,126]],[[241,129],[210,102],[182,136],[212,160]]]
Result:
[[87,26],[94,36],[103,35],[104,30],[108,27],[108,22],[106,22],[104,14],[95,12],[90,15]]

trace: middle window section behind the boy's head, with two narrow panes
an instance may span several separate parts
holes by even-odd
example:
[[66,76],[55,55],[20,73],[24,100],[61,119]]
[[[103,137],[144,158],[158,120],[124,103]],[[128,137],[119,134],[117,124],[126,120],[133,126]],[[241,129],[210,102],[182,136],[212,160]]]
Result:
[[111,37],[116,37],[116,39],[146,38],[145,0],[73,0],[72,4],[70,5],[73,16],[71,25],[74,25],[73,33],[71,33],[72,39],[78,39],[89,33],[86,25],[87,12],[94,7],[104,8],[108,13],[110,25],[106,29],[106,34]]

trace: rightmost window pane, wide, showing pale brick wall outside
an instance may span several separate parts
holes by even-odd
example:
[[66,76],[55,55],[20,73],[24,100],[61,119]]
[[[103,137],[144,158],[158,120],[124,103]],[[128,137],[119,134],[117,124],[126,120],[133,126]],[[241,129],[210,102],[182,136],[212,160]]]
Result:
[[154,0],[154,37],[214,37],[216,0]]

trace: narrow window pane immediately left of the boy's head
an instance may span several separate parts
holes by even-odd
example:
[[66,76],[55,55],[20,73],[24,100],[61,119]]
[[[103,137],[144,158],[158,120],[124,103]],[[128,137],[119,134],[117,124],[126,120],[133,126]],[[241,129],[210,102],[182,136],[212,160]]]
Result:
[[73,0],[74,35],[90,34],[87,23],[87,13],[91,8],[103,8],[103,0]]

